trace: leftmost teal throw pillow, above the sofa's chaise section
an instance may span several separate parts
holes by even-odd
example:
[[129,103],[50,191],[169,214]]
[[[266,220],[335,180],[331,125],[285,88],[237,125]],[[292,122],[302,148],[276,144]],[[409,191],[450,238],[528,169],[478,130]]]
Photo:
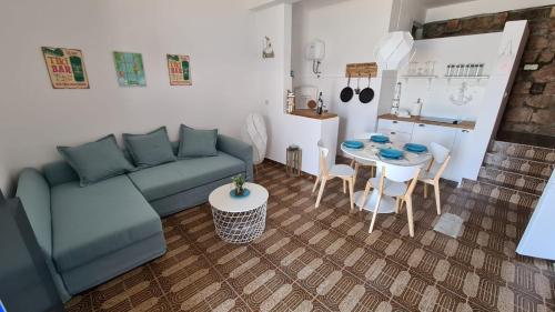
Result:
[[79,147],[58,147],[58,151],[79,174],[81,187],[134,170],[113,134]]

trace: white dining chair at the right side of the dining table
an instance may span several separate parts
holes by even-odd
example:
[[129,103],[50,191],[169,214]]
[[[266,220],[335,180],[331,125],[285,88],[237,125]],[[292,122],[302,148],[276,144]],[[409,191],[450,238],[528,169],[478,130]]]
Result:
[[423,170],[418,177],[418,181],[424,183],[424,198],[427,199],[427,187],[434,187],[435,207],[437,214],[442,214],[442,202],[440,197],[440,178],[442,178],[445,168],[451,160],[451,151],[442,144],[432,142],[430,144],[432,160],[426,170]]

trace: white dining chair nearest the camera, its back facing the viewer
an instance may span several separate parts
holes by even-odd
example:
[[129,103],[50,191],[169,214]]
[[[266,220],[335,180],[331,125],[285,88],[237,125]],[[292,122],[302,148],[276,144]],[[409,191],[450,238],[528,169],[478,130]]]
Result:
[[395,213],[398,213],[403,203],[406,202],[406,217],[408,220],[408,233],[414,236],[414,218],[413,218],[413,201],[412,194],[416,182],[418,181],[418,174],[421,172],[420,165],[396,165],[385,162],[376,162],[377,165],[377,177],[372,178],[366,182],[366,188],[364,189],[364,194],[362,198],[362,207],[366,203],[366,199],[372,189],[377,189],[377,200],[372,214],[372,221],[370,223],[369,233],[372,233],[374,229],[374,223],[376,221],[377,213],[380,211],[380,203],[382,202],[382,197],[395,198]]

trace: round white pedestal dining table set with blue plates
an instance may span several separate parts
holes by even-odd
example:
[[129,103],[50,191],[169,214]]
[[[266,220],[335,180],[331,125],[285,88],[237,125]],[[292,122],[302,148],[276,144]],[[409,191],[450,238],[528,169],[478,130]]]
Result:
[[[396,165],[421,165],[425,167],[426,164],[430,163],[432,160],[432,153],[430,152],[430,149],[425,152],[411,152],[405,150],[405,142],[392,142],[389,141],[386,143],[379,143],[379,142],[373,142],[369,139],[354,139],[354,140],[347,140],[347,141],[360,141],[363,143],[362,148],[353,149],[353,148],[347,148],[345,143],[341,144],[341,151],[343,153],[354,158],[355,160],[363,160],[366,162],[383,162],[383,163],[390,163],[390,164],[396,164]],[[380,151],[382,149],[395,149],[403,151],[403,155],[398,159],[389,159],[384,158],[380,154]],[[382,171],[381,165],[376,165],[376,177],[380,177],[380,172]],[[376,205],[377,201],[377,195],[379,195],[379,190],[373,189],[372,194],[369,197],[366,202],[363,204],[362,203],[362,198],[364,195],[364,191],[357,191],[354,193],[354,201],[355,205],[363,209],[373,212]],[[395,212],[395,199],[391,197],[383,195],[382,200],[380,202],[380,209],[379,213],[394,213]]]

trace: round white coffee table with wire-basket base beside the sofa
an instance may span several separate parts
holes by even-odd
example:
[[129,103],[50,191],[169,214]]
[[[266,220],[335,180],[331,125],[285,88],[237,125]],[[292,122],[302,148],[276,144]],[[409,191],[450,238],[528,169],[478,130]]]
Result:
[[230,243],[248,243],[259,238],[266,227],[268,190],[245,183],[251,192],[244,198],[230,194],[233,184],[225,184],[210,193],[215,233]]

